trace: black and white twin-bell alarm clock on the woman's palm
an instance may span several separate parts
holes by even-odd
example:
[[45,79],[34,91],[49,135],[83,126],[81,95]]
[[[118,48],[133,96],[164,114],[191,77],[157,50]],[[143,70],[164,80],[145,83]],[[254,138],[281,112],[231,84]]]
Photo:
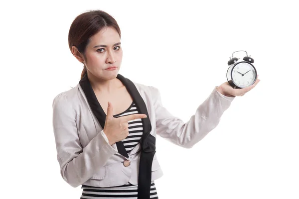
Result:
[[246,52],[244,50],[233,52],[232,58],[230,57],[230,60],[227,62],[229,67],[226,72],[226,78],[234,89],[249,87],[257,80],[257,70],[253,66],[254,59],[252,59],[250,55],[248,56],[247,52],[243,60],[234,57],[234,53],[241,51]]

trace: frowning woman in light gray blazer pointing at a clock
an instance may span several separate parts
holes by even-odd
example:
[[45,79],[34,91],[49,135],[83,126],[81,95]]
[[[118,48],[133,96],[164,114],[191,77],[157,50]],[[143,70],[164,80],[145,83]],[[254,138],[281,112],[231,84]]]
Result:
[[69,48],[84,69],[79,84],[53,100],[53,130],[61,176],[82,185],[81,199],[158,199],[154,180],[162,176],[156,134],[191,148],[217,126],[235,96],[245,89],[223,83],[184,123],[163,106],[158,89],[118,74],[121,31],[101,10],[75,18]]

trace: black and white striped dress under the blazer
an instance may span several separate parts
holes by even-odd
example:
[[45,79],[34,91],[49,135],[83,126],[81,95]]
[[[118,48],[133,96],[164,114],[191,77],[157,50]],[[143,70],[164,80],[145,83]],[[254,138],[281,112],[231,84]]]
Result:
[[[114,117],[121,117],[129,114],[139,113],[135,102],[133,101],[130,107],[122,113],[114,115]],[[126,151],[130,153],[132,149],[139,143],[142,133],[143,125],[141,119],[134,119],[129,123],[129,136],[122,140]],[[82,185],[82,195],[80,199],[137,199],[138,185],[130,183],[117,187],[100,188]],[[150,185],[150,198],[158,199],[154,182]]]

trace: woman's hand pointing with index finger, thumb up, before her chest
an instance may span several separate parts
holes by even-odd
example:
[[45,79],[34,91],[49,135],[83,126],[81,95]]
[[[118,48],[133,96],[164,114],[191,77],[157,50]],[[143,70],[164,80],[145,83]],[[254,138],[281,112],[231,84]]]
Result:
[[112,114],[113,106],[108,101],[107,116],[105,120],[104,133],[106,134],[109,144],[119,142],[129,135],[128,121],[133,119],[142,119],[148,117],[146,114],[132,114],[115,118]]

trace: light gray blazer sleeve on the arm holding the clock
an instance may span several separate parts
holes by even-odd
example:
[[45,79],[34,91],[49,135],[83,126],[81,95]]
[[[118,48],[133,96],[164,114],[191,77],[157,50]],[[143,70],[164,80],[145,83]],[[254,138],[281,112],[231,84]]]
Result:
[[184,148],[192,148],[219,123],[235,97],[220,94],[216,87],[186,123],[173,116],[163,105],[160,92],[150,86],[155,112],[156,134]]

